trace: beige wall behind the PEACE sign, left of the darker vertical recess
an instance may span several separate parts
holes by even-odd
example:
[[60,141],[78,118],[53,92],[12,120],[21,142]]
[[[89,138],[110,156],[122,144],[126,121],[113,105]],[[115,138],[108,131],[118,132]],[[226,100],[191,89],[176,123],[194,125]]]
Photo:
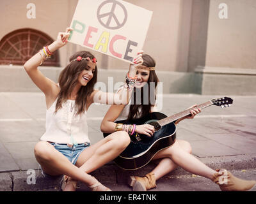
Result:
[[[162,0],[135,1],[136,4],[147,10],[153,11],[152,22],[148,29],[143,50],[154,57],[157,68],[163,71],[187,71],[188,70],[188,46],[189,30],[191,22],[191,0]],[[26,13],[27,4],[35,3],[36,18],[28,19]],[[20,28],[33,28],[42,31],[52,39],[56,39],[58,32],[65,31],[70,25],[77,0],[23,0],[1,1],[0,17],[4,19],[0,31],[0,38]],[[140,18],[140,17],[138,17]],[[19,20],[17,20],[19,19]],[[134,31],[136,32],[136,31]],[[84,50],[78,45],[67,45],[60,49],[61,66],[65,66],[68,56],[78,50]],[[99,67],[107,69],[127,69],[129,64],[113,57],[102,56],[93,52],[99,61]]]

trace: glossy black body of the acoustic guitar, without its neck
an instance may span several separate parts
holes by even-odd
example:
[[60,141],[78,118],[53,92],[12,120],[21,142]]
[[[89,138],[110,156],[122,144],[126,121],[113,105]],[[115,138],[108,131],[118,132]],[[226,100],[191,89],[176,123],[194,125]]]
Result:
[[[116,123],[122,124],[150,124],[156,131],[153,136],[139,135],[138,141],[134,135],[131,135],[131,143],[114,160],[115,163],[125,170],[136,170],[145,166],[159,150],[170,147],[176,139],[176,126],[173,122],[160,126],[157,121],[167,117],[163,113],[149,113],[146,117],[134,120],[119,120]],[[110,133],[104,133],[104,137]]]

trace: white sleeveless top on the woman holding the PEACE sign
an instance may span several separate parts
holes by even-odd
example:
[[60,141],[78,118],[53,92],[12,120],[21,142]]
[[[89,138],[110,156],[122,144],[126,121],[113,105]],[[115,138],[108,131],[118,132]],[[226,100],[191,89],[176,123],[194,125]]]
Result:
[[76,115],[75,102],[69,100],[62,104],[62,108],[55,112],[57,99],[51,108],[46,111],[46,132],[40,140],[55,143],[90,143],[88,138],[88,126],[86,111],[81,115]]

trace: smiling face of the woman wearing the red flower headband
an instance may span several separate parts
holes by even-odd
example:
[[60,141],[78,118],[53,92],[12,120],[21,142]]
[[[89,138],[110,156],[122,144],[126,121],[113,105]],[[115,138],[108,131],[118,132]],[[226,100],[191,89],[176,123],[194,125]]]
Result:
[[82,86],[86,86],[88,82],[93,78],[93,73],[95,71],[95,63],[88,61],[84,70],[79,74],[78,82]]

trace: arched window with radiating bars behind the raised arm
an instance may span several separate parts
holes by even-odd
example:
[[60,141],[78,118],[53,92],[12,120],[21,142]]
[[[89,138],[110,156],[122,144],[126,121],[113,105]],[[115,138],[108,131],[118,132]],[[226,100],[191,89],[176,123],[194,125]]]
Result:
[[[0,41],[0,64],[23,65],[52,41],[47,34],[34,29],[19,29],[6,34]],[[60,66],[59,59],[57,50],[42,66]]]

